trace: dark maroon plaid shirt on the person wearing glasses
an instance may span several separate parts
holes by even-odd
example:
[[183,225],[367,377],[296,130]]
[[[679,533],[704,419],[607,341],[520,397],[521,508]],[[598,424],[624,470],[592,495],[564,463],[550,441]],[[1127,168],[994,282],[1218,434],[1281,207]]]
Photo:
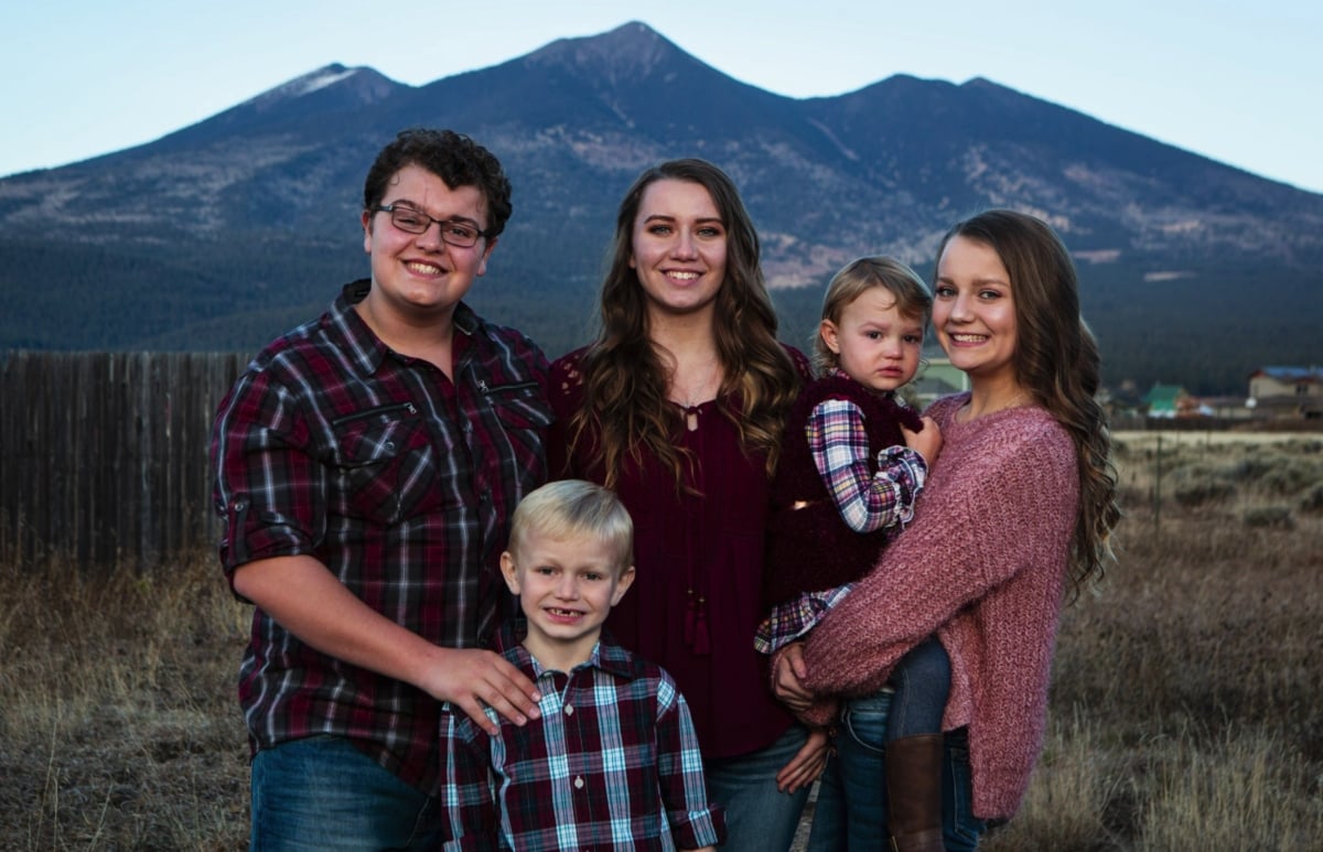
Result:
[[[355,311],[370,282],[267,347],[220,406],[214,501],[228,577],[307,554],[368,606],[429,642],[480,646],[505,594],[508,516],[546,475],[545,356],[455,310],[454,381],[390,351]],[[435,788],[439,704],[327,656],[261,609],[239,672],[251,749],[351,738]]]

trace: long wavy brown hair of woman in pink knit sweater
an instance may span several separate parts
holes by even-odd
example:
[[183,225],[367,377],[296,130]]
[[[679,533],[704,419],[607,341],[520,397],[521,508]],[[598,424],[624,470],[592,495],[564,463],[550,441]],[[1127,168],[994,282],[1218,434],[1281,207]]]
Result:
[[[1011,277],[1017,343],[1015,372],[1074,439],[1080,463],[1080,511],[1072,546],[1072,579],[1078,591],[1102,577],[1111,561],[1111,532],[1121,521],[1111,433],[1097,393],[1102,359],[1080,312],[1074,262],[1045,222],[1015,210],[986,210],[958,222],[942,238],[980,242]],[[934,273],[935,274],[935,273]]]

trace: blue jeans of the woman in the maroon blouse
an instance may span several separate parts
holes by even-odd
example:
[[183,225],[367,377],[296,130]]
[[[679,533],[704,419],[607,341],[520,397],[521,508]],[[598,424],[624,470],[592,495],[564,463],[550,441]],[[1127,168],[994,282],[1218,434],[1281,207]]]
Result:
[[777,790],[777,773],[804,745],[808,730],[791,725],[777,742],[738,757],[703,761],[708,798],[726,810],[721,852],[786,852],[795,840],[808,787]]

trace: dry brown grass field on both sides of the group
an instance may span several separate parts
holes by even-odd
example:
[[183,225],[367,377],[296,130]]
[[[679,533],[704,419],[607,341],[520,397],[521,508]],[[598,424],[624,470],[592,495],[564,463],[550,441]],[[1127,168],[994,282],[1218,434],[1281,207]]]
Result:
[[[1119,562],[1066,611],[1044,757],[984,848],[1320,848],[1323,438],[1118,450]],[[0,848],[245,848],[247,614],[210,557],[0,583]]]

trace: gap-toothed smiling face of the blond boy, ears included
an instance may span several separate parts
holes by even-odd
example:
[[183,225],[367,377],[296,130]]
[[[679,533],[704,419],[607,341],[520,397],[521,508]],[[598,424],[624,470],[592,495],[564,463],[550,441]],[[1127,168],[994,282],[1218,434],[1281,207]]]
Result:
[[529,531],[517,553],[501,554],[500,568],[528,619],[524,647],[561,671],[591,656],[602,622],[634,582],[634,566],[620,566],[619,546],[595,536]]

